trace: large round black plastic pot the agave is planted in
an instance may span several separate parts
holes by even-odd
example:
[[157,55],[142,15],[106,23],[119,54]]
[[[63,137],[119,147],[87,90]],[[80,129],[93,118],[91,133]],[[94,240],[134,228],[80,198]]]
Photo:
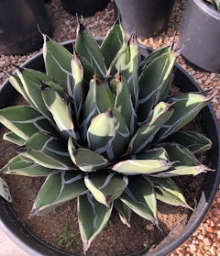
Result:
[[[68,50],[72,51],[72,41],[66,42],[65,46]],[[146,48],[141,47],[140,50],[142,55],[146,55]],[[39,53],[24,63],[22,67],[44,71],[42,53]],[[183,71],[180,66],[176,65],[174,73],[175,79],[173,83],[181,88],[181,91],[201,91],[198,84],[195,83],[192,77],[189,76],[187,72]],[[0,108],[11,106],[16,97],[17,91],[6,81],[6,83],[0,87]],[[206,154],[206,164],[216,171],[204,173],[201,196],[198,198],[198,206],[192,212],[189,222],[181,229],[180,233],[173,235],[172,232],[170,232],[170,235],[162,241],[156,249],[151,252],[147,250],[137,251],[137,253],[133,253],[132,256],[164,256],[169,254],[192,235],[194,230],[201,224],[212,205],[214,195],[217,192],[220,182],[220,128],[211,105],[203,108],[199,116],[199,121],[203,133],[213,141],[212,149]],[[28,228],[23,227],[17,219],[16,213],[11,205],[2,197],[0,197],[0,228],[3,228],[6,234],[31,256],[71,256],[68,253],[50,247],[41,239],[38,239]]]

